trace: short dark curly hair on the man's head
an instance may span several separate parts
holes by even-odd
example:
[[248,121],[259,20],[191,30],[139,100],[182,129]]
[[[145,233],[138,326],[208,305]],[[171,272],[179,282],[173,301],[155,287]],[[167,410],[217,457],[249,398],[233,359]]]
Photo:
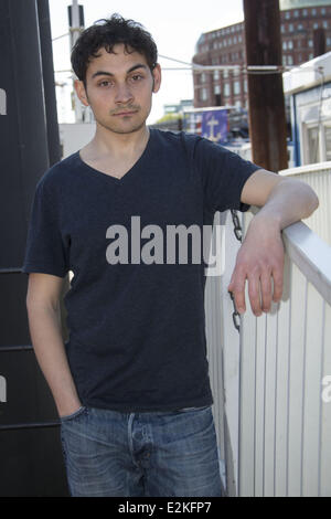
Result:
[[158,49],[151,34],[134,20],[125,20],[120,14],[95,22],[82,32],[71,55],[73,70],[86,87],[86,71],[93,57],[98,57],[103,47],[111,53],[114,45],[124,43],[126,52],[137,51],[146,57],[153,71],[158,61]]

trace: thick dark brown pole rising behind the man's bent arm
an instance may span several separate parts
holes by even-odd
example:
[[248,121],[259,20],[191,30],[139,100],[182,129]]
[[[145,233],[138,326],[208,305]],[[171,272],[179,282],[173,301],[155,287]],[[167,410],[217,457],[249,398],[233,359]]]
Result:
[[[247,67],[281,66],[278,0],[244,0]],[[287,128],[282,76],[248,71],[252,158],[270,171],[287,169]]]

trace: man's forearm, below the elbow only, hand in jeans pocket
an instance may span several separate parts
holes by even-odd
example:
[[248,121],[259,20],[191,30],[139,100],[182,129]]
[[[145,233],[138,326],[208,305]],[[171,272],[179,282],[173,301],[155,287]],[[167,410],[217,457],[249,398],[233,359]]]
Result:
[[31,340],[60,415],[71,414],[81,402],[71,374],[61,332],[60,309],[28,306]]

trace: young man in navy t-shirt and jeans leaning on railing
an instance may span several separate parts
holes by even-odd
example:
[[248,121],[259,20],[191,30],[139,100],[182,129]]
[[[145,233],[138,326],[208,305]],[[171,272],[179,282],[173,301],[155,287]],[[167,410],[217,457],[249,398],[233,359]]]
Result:
[[[138,23],[114,15],[85,30],[72,64],[96,134],[40,179],[23,267],[31,273],[31,338],[61,417],[71,494],[221,496],[204,262],[173,261],[169,247],[152,252],[148,226],[168,240],[170,226],[202,229],[215,211],[261,206],[228,287],[243,313],[247,279],[258,316],[281,297],[281,230],[309,216],[317,197],[206,139],[149,129],[161,70]],[[127,237],[120,246],[118,236]],[[68,271],[64,346],[58,299]]]

